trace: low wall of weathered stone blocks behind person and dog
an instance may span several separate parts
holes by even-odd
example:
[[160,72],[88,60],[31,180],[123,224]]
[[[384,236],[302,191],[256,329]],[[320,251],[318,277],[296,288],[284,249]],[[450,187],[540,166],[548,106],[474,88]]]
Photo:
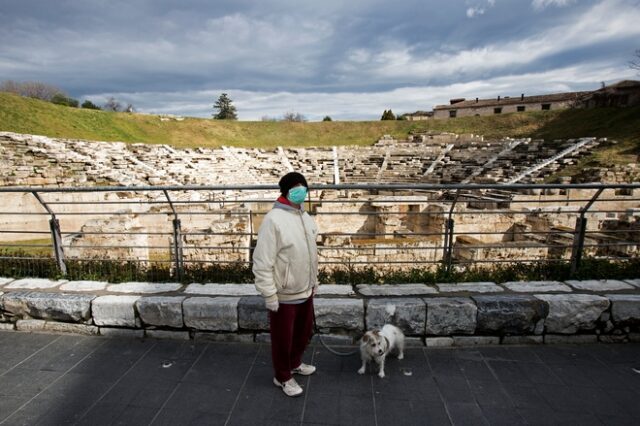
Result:
[[[355,343],[400,327],[427,346],[640,341],[640,280],[322,285],[318,333]],[[0,278],[3,330],[233,341],[268,340],[251,284]]]

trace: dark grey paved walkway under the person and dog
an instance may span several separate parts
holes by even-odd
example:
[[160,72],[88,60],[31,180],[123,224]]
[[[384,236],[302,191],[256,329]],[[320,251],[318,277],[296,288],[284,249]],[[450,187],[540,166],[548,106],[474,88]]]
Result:
[[[0,332],[0,425],[638,424],[640,344],[407,350],[387,377],[307,351],[287,398],[268,345]],[[635,371],[634,371],[635,370]]]

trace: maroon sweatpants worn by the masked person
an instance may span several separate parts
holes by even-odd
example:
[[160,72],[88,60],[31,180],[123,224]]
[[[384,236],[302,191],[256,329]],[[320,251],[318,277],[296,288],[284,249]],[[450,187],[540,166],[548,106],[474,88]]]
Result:
[[269,311],[269,323],[275,377],[286,382],[302,362],[313,333],[313,297],[295,305],[281,303],[278,312]]

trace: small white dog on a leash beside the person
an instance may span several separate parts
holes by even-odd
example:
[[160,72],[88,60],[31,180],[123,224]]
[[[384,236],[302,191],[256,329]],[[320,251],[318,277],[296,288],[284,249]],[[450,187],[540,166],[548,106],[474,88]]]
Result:
[[364,374],[367,363],[373,360],[380,367],[378,377],[384,377],[384,360],[394,350],[398,352],[398,359],[404,358],[404,334],[398,327],[385,324],[380,331],[367,331],[360,340],[362,367],[358,374]]

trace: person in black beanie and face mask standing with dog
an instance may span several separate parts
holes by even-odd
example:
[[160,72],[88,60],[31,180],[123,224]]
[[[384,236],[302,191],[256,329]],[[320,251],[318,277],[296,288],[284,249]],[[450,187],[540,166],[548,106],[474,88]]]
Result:
[[309,185],[297,172],[278,182],[282,195],[264,217],[253,252],[256,289],[269,310],[273,383],[287,396],[302,394],[293,374],[316,371],[302,362],[313,331],[318,288],[318,228],[304,211]]

